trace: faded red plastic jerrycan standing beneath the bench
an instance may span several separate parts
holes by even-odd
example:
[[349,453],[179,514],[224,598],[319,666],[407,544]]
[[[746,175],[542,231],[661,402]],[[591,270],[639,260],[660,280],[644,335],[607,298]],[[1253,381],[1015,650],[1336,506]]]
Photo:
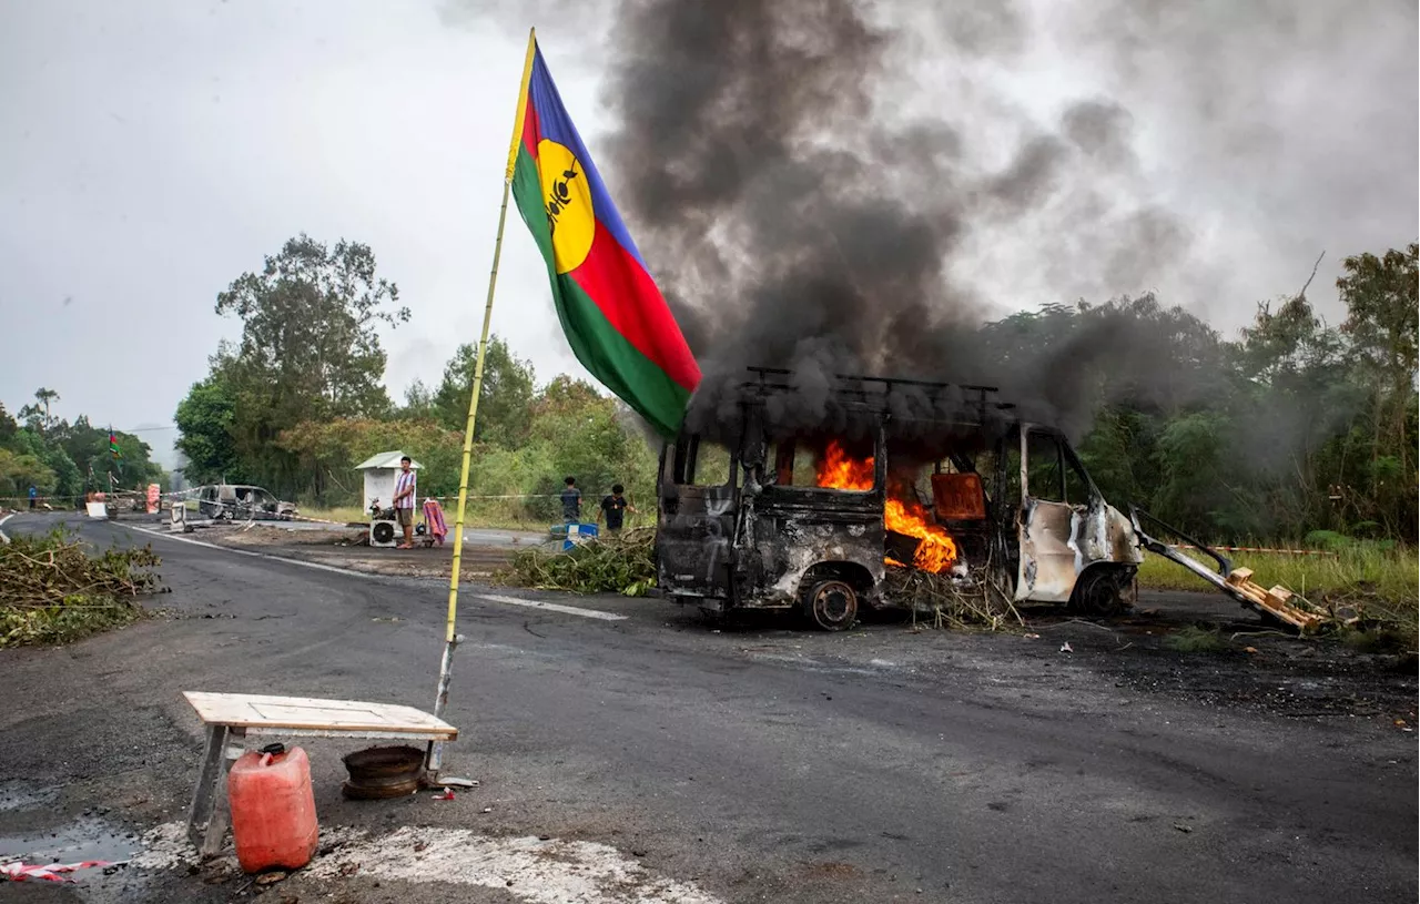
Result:
[[247,873],[298,870],[318,844],[311,761],[298,746],[270,744],[247,751],[227,773],[231,839]]

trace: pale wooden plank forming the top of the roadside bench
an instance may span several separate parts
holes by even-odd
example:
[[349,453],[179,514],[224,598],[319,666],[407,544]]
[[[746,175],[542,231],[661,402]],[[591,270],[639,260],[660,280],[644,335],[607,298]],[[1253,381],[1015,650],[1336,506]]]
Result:
[[459,734],[457,728],[427,712],[388,702],[202,691],[185,691],[183,697],[207,724],[258,729],[379,731],[447,739]]

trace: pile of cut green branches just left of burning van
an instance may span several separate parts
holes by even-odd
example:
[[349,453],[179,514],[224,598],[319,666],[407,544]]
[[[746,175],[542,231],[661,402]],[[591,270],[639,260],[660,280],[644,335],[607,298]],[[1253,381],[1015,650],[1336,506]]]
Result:
[[567,552],[523,549],[513,556],[507,583],[574,593],[645,596],[656,586],[653,531],[628,531],[572,546]]

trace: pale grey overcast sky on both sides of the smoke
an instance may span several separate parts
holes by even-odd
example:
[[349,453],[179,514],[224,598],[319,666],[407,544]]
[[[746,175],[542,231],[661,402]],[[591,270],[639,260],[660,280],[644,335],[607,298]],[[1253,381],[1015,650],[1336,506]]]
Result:
[[[1110,4],[1034,6],[1072,11],[1031,14],[1024,50],[973,78],[1041,122],[1081,98],[1123,104],[1137,172],[1112,190],[1167,206],[1189,234],[1177,267],[1110,290],[1157,290],[1231,334],[1325,250],[1311,297],[1335,319],[1343,255],[1420,238],[1413,3],[1318,0],[1285,27],[1231,3],[1196,4],[1216,21],[1143,26],[1082,13]],[[375,250],[413,312],[385,339],[390,395],[436,382],[477,338],[525,41],[469,9],[453,21],[436,0],[0,0],[6,407],[47,386],[64,417],[170,423],[239,335],[216,294],[300,231]],[[596,156],[612,125],[605,45],[523,24],[538,26]],[[1149,27],[1167,40],[1153,47]],[[1041,240],[981,248],[973,278],[1017,307],[1069,301],[1083,290],[1058,254],[1037,258]],[[493,329],[541,379],[582,373],[515,211]],[[172,433],[145,437],[162,453]]]

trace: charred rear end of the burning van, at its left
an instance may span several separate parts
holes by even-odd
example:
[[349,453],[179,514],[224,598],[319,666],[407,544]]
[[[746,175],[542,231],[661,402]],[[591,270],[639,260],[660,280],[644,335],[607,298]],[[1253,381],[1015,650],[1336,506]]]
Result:
[[738,464],[728,450],[680,436],[660,464],[656,572],[667,596],[710,609],[733,602]]

